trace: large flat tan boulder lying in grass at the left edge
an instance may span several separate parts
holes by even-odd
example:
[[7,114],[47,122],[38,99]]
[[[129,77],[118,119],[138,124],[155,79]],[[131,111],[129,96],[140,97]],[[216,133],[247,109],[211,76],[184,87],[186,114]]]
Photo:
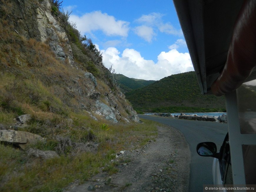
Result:
[[22,149],[24,149],[25,144],[28,142],[36,143],[43,140],[43,137],[26,131],[0,130],[0,141],[18,145]]

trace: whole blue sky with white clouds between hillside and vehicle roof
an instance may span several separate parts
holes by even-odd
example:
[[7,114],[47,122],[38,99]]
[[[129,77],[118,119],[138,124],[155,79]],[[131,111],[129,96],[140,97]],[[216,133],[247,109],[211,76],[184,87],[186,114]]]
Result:
[[171,0],[63,0],[61,7],[117,74],[160,80],[194,71]]

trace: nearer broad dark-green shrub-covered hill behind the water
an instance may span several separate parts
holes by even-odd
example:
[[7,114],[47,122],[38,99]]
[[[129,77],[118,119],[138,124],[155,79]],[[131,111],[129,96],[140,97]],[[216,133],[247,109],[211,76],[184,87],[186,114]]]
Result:
[[137,111],[218,112],[225,111],[225,98],[202,95],[194,71],[165,77],[125,94]]

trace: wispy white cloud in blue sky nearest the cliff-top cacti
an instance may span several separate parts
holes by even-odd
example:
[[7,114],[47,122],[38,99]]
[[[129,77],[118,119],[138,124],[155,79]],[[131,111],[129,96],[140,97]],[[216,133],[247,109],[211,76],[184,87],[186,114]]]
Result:
[[126,37],[129,31],[129,22],[117,20],[114,16],[101,11],[86,13],[81,17],[71,14],[69,20],[76,23],[77,29],[81,31],[81,34],[101,30],[108,36]]

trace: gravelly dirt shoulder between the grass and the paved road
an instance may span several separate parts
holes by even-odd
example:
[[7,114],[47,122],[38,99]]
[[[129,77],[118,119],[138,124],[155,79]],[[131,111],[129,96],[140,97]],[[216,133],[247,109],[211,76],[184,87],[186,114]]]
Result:
[[114,161],[119,172],[95,175],[82,185],[72,183],[64,192],[84,191],[188,191],[191,154],[183,134],[170,126],[158,126],[155,141],[124,151]]

